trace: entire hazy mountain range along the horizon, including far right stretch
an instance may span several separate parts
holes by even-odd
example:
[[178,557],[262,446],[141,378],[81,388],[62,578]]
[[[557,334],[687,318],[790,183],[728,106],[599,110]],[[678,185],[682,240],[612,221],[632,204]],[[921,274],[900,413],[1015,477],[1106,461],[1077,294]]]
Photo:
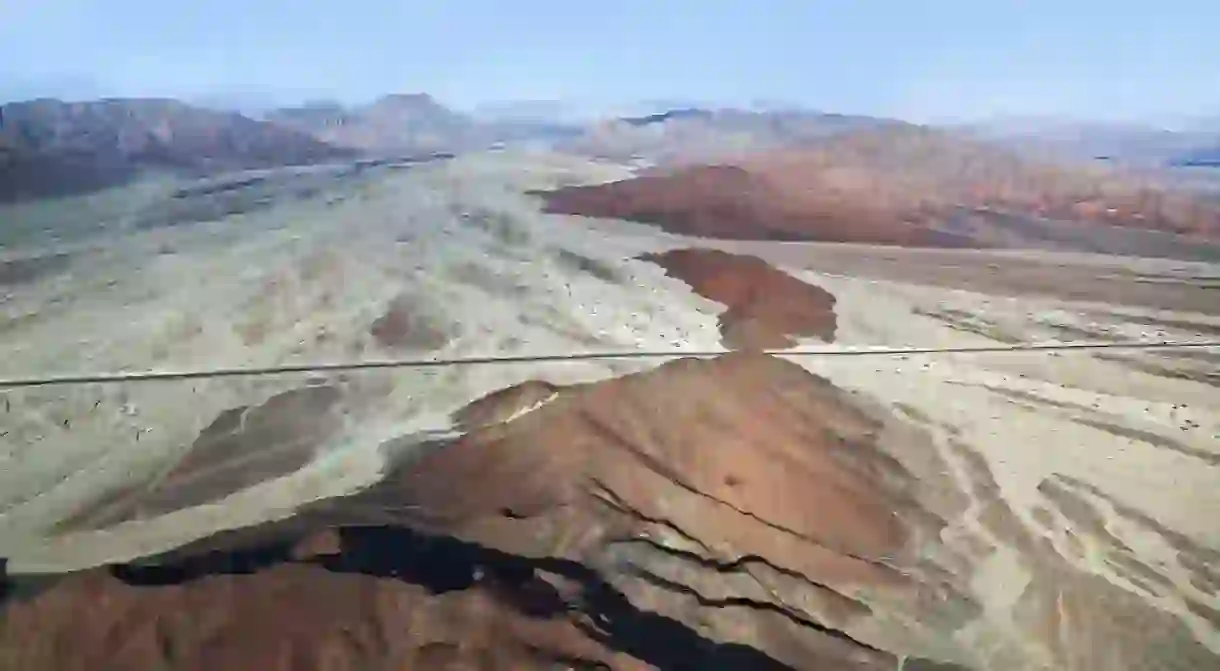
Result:
[[[656,109],[656,107],[653,107]],[[558,104],[500,104],[473,113],[426,93],[364,105],[311,101],[244,116],[172,99],[39,99],[0,107],[0,201],[88,192],[150,171],[209,174],[394,156],[540,145],[567,154],[676,165],[791,149],[902,121],[794,107],[677,106],[581,121]],[[1220,132],[1002,120],[943,128],[1022,155],[1138,166],[1208,166]]]

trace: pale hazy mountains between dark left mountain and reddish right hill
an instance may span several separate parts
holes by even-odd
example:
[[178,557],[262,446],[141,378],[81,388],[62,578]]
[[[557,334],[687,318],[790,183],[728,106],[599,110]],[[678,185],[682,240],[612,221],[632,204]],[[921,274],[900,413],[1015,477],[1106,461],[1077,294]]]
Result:
[[[800,109],[745,110],[640,104],[632,113],[582,120],[559,101],[501,101],[466,113],[428,94],[382,96],[367,105],[317,101],[268,112],[268,122],[371,154],[482,150],[540,144],[560,151],[659,162],[791,146],[891,120]],[[638,112],[638,113],[637,113]]]

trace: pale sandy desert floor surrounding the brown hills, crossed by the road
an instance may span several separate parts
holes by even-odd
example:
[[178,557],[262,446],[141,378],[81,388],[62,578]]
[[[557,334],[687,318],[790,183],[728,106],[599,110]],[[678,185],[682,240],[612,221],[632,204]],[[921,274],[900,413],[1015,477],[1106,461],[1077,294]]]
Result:
[[[686,248],[758,256],[832,294],[833,343],[805,337],[798,348],[1220,340],[1220,265],[712,242],[542,215],[525,194],[626,174],[562,156],[464,156],[345,174],[217,221],[120,221],[105,235],[27,238],[0,251],[0,378],[719,351],[723,306],[638,259]],[[854,638],[987,669],[1203,667],[1122,645],[1121,664],[1042,651],[1124,636],[1130,622],[1071,628],[1111,610],[1157,645],[1194,650],[1182,660],[1220,664],[1220,346],[780,356],[919,432],[931,451],[908,456],[941,465],[936,487],[960,504],[928,545],[972,558],[978,616],[933,636],[878,610],[845,626]],[[484,394],[659,364],[4,389],[0,556],[10,573],[62,572],[287,517],[376,482],[403,451],[460,434],[454,414]],[[309,420],[281,426],[273,409],[285,406]],[[234,449],[262,455],[224,466],[228,490],[199,487],[107,517],[116,490],[156,488],[232,409],[249,428]],[[1070,590],[1083,597],[1069,608]],[[1054,610],[1057,593],[1058,633],[1027,626]]]

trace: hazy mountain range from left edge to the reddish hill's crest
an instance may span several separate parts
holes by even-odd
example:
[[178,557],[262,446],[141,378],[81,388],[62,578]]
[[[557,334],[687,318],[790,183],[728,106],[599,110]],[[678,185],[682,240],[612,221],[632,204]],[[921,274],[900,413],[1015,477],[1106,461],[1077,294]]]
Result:
[[739,110],[687,110],[644,121],[564,121],[538,106],[464,113],[422,93],[355,106],[312,101],[257,118],[172,99],[38,99],[0,107],[0,201],[94,190],[150,171],[207,174],[538,143],[582,154],[672,157],[771,146],[842,126],[830,115]]

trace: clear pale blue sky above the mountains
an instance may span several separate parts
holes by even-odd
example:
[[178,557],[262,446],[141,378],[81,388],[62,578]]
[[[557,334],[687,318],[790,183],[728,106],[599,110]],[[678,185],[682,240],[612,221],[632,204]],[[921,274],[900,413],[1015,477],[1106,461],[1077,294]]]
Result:
[[0,0],[0,98],[1220,115],[1215,0]]

